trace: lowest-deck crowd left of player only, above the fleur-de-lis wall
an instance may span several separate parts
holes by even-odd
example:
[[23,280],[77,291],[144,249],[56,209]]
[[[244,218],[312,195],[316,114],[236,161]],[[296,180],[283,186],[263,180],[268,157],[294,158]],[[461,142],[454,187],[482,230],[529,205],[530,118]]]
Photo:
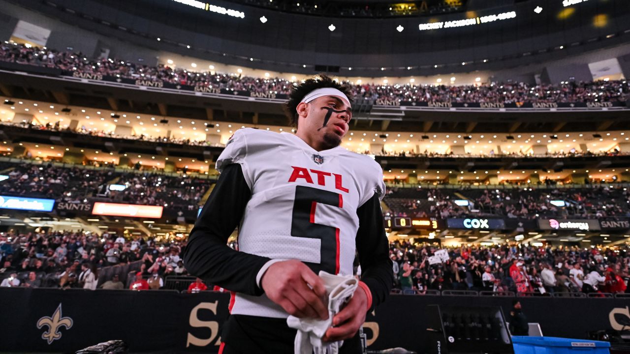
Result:
[[[140,278],[164,282],[170,275],[186,275],[179,253],[181,243],[155,238],[94,234],[88,231],[40,231],[0,234],[2,287],[89,288],[97,286],[99,273],[115,265],[136,263],[140,275],[110,275],[101,288],[137,288]],[[151,287],[154,288],[154,285]]]

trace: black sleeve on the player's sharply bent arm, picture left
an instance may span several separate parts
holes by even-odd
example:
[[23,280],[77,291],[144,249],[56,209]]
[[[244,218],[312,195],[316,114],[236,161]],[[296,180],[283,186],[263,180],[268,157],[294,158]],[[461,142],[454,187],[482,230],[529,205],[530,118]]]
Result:
[[[227,239],[243,217],[251,190],[240,164],[230,164],[203,206],[183,253],[186,270],[230,291],[261,295],[256,275],[270,258],[235,251]],[[391,267],[390,267],[391,268]]]

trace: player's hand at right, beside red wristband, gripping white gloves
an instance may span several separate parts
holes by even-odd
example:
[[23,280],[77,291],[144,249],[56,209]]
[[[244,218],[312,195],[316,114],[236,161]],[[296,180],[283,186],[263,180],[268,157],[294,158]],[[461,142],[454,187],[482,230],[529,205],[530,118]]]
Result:
[[367,295],[365,290],[362,287],[357,287],[352,299],[333,317],[333,326],[328,328],[321,340],[331,343],[352,338],[365,322],[366,308]]

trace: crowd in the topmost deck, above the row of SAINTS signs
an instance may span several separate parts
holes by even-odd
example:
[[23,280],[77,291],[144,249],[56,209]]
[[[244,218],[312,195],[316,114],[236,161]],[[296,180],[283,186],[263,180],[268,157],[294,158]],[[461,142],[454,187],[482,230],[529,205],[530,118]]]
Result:
[[[193,72],[159,64],[147,66],[123,59],[92,59],[80,52],[60,52],[54,49],[26,47],[4,42],[0,45],[0,60],[53,67],[65,71],[102,74],[131,79],[146,79],[166,83],[205,86],[215,89],[251,91],[255,93],[288,94],[292,83],[286,78],[260,78],[240,74]],[[421,85],[343,83],[357,99],[410,102],[519,103],[519,102],[595,102],[625,101],[630,92],[627,81],[594,81],[561,84],[479,83],[473,85]]]

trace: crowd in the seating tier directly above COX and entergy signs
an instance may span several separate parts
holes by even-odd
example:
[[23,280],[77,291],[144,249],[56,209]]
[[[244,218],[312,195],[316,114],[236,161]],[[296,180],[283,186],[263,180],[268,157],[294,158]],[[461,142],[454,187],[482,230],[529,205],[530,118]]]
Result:
[[[401,217],[498,216],[520,219],[563,217],[602,219],[630,217],[630,191],[615,185],[595,188],[514,188],[512,190],[473,190],[456,192],[468,205],[455,200],[455,191],[428,188],[392,188],[384,201]],[[554,203],[552,203],[554,201]],[[558,203],[562,202],[562,203]],[[564,204],[564,205],[562,205]]]

